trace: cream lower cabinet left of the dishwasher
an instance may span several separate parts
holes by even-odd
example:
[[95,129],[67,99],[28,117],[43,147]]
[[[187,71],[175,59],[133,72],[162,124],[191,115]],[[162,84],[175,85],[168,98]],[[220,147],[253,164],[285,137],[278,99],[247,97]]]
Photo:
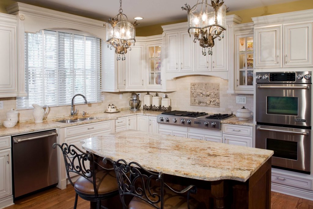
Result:
[[0,208],[13,204],[10,140],[10,136],[0,137]]

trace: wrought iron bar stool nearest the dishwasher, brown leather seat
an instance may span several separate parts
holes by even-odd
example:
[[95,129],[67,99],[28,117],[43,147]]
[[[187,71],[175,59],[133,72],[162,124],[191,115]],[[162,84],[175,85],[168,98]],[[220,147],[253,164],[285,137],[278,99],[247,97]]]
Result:
[[[55,149],[57,146],[62,151],[69,182],[76,192],[74,209],[77,207],[78,196],[87,201],[97,202],[97,209],[106,208],[101,206],[101,201],[118,194],[114,168],[102,167],[95,162],[93,153],[85,153],[75,145],[54,143],[52,147]],[[100,166],[102,169],[96,170],[95,166]],[[75,183],[70,175],[73,173],[80,175]]]

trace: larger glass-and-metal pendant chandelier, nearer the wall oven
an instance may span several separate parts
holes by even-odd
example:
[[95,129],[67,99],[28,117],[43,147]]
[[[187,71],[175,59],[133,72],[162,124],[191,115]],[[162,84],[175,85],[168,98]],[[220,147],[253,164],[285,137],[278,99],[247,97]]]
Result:
[[204,56],[207,54],[206,48],[208,48],[208,54],[212,55],[214,39],[224,38],[227,8],[223,3],[223,0],[212,0],[211,4],[208,0],[202,0],[202,2],[198,0],[193,7],[187,3],[182,7],[182,10],[188,12],[188,33],[193,34],[194,43],[199,40],[199,45],[204,48],[204,51],[202,49]]

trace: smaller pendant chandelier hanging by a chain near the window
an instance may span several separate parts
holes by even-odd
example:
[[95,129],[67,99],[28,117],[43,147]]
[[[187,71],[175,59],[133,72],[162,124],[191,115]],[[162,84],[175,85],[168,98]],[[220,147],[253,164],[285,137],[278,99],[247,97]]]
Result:
[[135,45],[135,27],[138,24],[137,20],[133,24],[128,21],[127,16],[123,14],[122,0],[120,0],[119,13],[115,18],[109,18],[106,23],[106,42],[111,44],[111,50],[115,48],[116,60],[121,60],[121,55],[122,60],[125,60],[127,49],[131,50],[131,44]]

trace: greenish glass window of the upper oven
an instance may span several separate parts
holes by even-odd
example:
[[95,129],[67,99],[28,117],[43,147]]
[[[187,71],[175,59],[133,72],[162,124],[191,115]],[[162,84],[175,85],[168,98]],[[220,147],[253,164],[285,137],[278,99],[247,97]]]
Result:
[[298,115],[298,97],[267,97],[266,113],[274,115]]

